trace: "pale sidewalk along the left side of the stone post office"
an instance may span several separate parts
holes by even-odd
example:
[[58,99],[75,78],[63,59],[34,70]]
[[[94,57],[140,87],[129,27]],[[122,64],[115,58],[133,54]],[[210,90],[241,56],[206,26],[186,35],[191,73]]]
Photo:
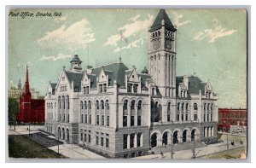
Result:
[[[27,130],[26,125],[18,125],[16,126],[16,129],[14,130],[14,127],[9,128],[9,135],[28,135],[28,130]],[[44,127],[44,126],[43,126]],[[42,136],[38,136],[40,141],[37,141],[37,133],[40,133],[38,129],[42,129],[42,126],[38,125],[31,125],[30,126],[30,134],[33,134],[34,136],[31,138],[31,140],[34,140],[35,142],[38,142],[39,144],[42,144],[45,146],[45,144],[48,144],[49,139],[52,142],[55,142],[55,137],[54,136],[47,136],[47,138],[44,138]],[[55,142],[56,144],[56,142]],[[50,150],[55,151],[56,153],[58,152],[58,145],[50,146]],[[70,159],[105,159],[103,156],[99,154],[95,154],[89,150],[83,149],[79,147],[78,145],[74,144],[59,144],[59,153],[66,156],[67,158]]]

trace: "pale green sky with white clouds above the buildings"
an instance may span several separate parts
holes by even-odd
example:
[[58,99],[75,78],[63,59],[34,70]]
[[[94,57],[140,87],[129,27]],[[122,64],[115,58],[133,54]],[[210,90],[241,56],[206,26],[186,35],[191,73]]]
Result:
[[[79,55],[83,69],[122,61],[148,67],[148,28],[159,9],[17,9],[9,14],[9,87],[25,82],[45,95]],[[52,17],[36,16],[51,13]],[[54,16],[54,13],[58,16]],[[61,13],[61,15],[60,15]],[[247,14],[240,9],[166,9],[177,28],[177,76],[212,84],[218,107],[247,107]],[[121,49],[120,34],[122,33]],[[125,38],[125,40],[124,40]],[[121,50],[121,51],[120,51]]]

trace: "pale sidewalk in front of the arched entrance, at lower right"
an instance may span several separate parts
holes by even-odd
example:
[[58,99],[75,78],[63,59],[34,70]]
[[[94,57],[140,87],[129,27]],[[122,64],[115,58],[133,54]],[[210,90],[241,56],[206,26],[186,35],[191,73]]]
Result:
[[[245,147],[244,144],[241,145],[238,142],[235,143],[235,146],[232,146],[230,143],[231,142],[229,142],[229,149]],[[201,159],[201,157],[203,156],[223,152],[226,150],[227,150],[226,142],[207,145],[207,147],[203,147],[203,148],[195,148],[196,159]],[[177,151],[172,156],[173,156],[173,159],[191,159],[193,156],[193,153],[192,153],[192,149],[188,149],[188,150]],[[150,154],[146,156],[140,156],[134,159],[171,159],[171,152],[165,153],[163,158],[161,157],[160,154]]]

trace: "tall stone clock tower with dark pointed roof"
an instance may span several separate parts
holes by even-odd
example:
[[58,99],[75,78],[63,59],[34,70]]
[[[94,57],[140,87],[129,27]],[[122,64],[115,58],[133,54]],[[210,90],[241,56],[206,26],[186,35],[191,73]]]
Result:
[[176,31],[165,9],[160,9],[148,31],[149,73],[161,96],[176,95]]

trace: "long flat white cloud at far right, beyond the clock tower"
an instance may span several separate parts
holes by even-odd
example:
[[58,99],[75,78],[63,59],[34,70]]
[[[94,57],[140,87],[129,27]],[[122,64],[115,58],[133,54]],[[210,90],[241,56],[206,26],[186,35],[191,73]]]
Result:
[[[214,20],[215,22],[216,20]],[[236,32],[235,29],[228,30],[226,28],[223,28],[222,26],[216,26],[210,29],[206,29],[201,32],[195,33],[194,38],[192,41],[201,41],[202,39],[207,38],[208,43],[213,43],[215,42],[218,38],[223,38],[225,36],[230,36],[234,32]]]

